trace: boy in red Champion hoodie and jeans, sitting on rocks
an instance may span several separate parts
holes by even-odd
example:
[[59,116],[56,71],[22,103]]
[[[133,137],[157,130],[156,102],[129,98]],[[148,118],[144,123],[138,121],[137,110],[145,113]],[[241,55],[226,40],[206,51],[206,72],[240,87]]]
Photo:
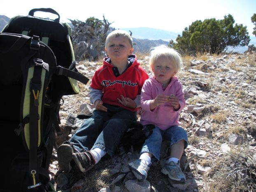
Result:
[[129,125],[137,120],[140,91],[149,76],[132,54],[133,39],[126,31],[114,30],[107,36],[105,51],[108,57],[89,87],[93,116],[57,150],[59,168],[65,172],[70,172],[72,160],[84,173],[105,154],[114,155]]

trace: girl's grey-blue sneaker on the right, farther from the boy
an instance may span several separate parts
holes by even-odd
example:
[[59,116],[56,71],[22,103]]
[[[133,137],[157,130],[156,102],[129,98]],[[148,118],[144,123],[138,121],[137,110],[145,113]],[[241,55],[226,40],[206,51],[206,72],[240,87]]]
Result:
[[175,162],[173,161],[165,164],[161,172],[165,175],[168,175],[168,177],[172,180],[177,180],[182,182],[186,181],[186,177],[182,172],[182,169],[179,167],[179,161],[177,164],[175,164]]

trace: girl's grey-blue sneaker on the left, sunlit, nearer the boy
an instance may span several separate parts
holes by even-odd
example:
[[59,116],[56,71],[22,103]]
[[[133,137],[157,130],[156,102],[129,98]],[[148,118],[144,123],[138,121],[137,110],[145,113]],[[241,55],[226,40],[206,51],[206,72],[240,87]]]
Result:
[[128,164],[129,169],[133,172],[134,176],[138,181],[143,182],[147,178],[147,173],[149,171],[149,165],[147,165],[145,160],[135,160]]

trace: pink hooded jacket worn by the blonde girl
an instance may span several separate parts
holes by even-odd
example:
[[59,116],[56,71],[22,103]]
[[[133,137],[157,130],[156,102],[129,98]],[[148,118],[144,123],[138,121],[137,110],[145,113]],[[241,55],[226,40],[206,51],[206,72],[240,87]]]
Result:
[[[159,94],[177,96],[179,98],[179,110],[174,111],[170,102],[166,102],[151,111],[149,108],[150,102]],[[186,105],[182,83],[179,82],[176,76],[172,77],[169,85],[163,90],[161,83],[156,81],[155,77],[150,77],[142,87],[140,104],[144,109],[140,118],[142,125],[154,124],[161,130],[166,130],[173,125],[179,125],[179,112]]]

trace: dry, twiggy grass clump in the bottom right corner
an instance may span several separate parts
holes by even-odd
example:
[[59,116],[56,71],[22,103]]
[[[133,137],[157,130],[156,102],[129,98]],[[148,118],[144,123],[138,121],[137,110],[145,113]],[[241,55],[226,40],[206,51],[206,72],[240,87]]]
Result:
[[[253,192],[256,190],[256,161],[244,146],[236,154],[226,154],[216,159],[205,179],[209,192]],[[214,181],[209,180],[212,178]],[[218,181],[218,182],[216,182]]]

